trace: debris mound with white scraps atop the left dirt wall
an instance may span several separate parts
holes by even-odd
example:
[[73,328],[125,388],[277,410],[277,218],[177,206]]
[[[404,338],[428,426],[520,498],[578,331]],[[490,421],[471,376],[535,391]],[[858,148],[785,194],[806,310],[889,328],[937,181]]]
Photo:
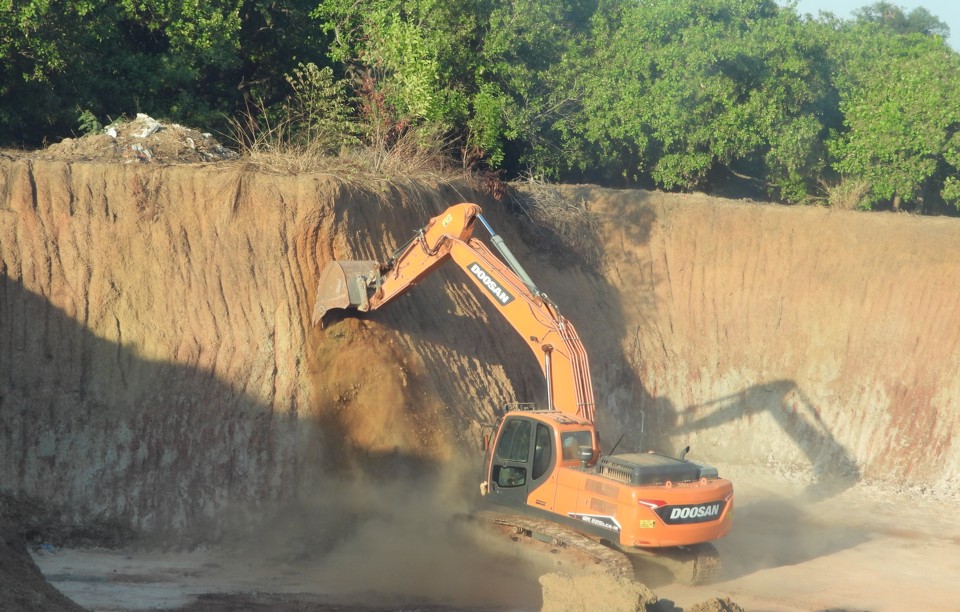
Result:
[[97,134],[65,138],[43,154],[55,158],[119,159],[127,163],[212,162],[238,157],[210,133],[177,123],[162,123],[142,113],[132,121],[115,121]]

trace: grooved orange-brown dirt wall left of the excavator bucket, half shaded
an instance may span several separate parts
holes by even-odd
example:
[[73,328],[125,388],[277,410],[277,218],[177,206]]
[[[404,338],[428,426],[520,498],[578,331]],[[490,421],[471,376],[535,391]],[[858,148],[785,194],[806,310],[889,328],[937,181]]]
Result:
[[[307,325],[318,262],[360,228],[355,248],[381,242],[382,197],[239,167],[3,160],[0,177],[5,490],[210,537],[224,509],[322,481],[340,447],[445,452],[399,418],[420,383],[397,339]],[[342,423],[350,403],[368,408]]]

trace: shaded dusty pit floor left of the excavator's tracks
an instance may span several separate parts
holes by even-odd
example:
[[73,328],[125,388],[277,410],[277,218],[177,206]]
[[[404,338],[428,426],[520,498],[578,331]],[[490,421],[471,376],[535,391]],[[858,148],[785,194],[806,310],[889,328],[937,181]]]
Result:
[[[404,528],[411,533],[386,536]],[[251,542],[179,552],[40,549],[34,559],[53,586],[95,611],[539,609],[537,578],[556,560],[477,537],[462,523],[424,530],[414,520],[366,524],[324,554],[288,541],[293,552]]]

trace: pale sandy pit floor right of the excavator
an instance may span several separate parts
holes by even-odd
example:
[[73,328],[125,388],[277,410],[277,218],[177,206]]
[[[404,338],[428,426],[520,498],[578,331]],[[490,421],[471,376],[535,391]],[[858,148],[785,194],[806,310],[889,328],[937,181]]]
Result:
[[686,608],[729,596],[747,610],[958,610],[957,503],[858,485],[826,499],[782,482],[737,477],[722,580],[648,584]]

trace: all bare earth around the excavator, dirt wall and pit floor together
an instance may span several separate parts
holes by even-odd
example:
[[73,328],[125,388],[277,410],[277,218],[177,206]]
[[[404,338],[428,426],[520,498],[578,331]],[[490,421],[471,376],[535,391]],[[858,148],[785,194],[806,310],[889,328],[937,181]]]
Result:
[[[436,531],[469,510],[481,427],[543,400],[514,332],[453,267],[310,325],[324,263],[385,260],[460,201],[576,323],[606,446],[690,445],[734,481],[721,582],[651,572],[661,609],[958,600],[958,220],[568,187],[553,197],[588,213],[535,224],[467,184],[83,144],[0,155],[0,603],[73,605],[26,538],[95,609],[98,583],[191,609],[236,591],[264,609],[550,607],[554,565]],[[104,578],[118,568],[133,578]]]

